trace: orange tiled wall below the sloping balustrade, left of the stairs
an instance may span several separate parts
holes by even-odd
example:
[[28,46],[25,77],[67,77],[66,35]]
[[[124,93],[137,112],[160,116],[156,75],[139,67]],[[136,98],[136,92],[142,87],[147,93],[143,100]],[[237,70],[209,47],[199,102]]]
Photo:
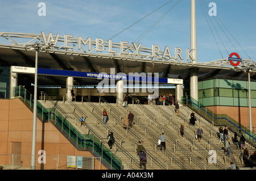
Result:
[[[0,99],[0,155],[11,154],[11,143],[21,142],[22,166],[30,168],[33,113],[19,99]],[[36,154],[45,150],[48,155],[80,155],[93,157],[89,151],[77,150],[51,123],[36,121]],[[10,165],[10,156],[0,157],[1,165]],[[25,158],[26,157],[26,158]],[[55,158],[55,157],[54,157]],[[47,160],[47,159],[46,159]],[[49,159],[44,169],[56,168],[56,160]],[[95,163],[95,169],[100,168]],[[36,168],[43,164],[36,163]],[[59,169],[66,169],[67,159],[60,159]],[[101,165],[101,169],[106,169]]]

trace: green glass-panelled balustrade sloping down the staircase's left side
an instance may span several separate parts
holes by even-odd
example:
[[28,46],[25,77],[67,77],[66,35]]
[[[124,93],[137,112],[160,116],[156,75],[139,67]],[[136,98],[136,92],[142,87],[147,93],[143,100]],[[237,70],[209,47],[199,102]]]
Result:
[[[45,97],[45,96],[44,96]],[[30,92],[28,92],[22,86],[14,87],[14,98],[23,99],[24,103],[28,108],[32,110],[34,106],[34,98]],[[51,103],[52,102],[51,100]],[[76,129],[67,119],[67,113],[62,110],[55,103],[51,108],[46,108],[40,102],[37,103],[37,113],[39,119],[42,121],[48,121],[52,123],[65,137],[79,150],[92,149],[96,151],[101,157],[111,166],[113,169],[122,169],[121,160],[112,155],[104,144],[102,144],[103,138],[101,138],[92,128],[89,127],[92,134],[82,134]]]

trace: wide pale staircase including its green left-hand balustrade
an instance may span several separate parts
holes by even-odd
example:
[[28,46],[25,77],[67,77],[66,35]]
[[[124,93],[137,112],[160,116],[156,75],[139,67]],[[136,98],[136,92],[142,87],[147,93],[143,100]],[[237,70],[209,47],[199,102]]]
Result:
[[[14,90],[15,97],[24,100],[32,109],[33,97],[22,87]],[[218,128],[220,125],[207,120],[199,112],[196,114],[196,125],[189,125],[190,113],[193,107],[180,103],[180,115],[175,115],[174,106],[155,106],[143,104],[108,103],[99,96],[100,102],[92,103],[86,97],[82,102],[52,100],[44,92],[38,101],[38,117],[42,121],[50,121],[65,137],[79,150],[91,151],[102,158],[102,163],[108,169],[144,169],[139,164],[136,153],[138,141],[146,149],[147,169],[152,170],[203,170],[226,169],[230,162],[243,167],[243,150],[231,146],[231,157],[224,153],[224,144],[219,141]],[[130,99],[133,99],[130,97]],[[113,96],[113,100],[118,100]],[[103,110],[109,115],[107,124],[103,123]],[[123,128],[123,116],[129,112],[134,114],[134,125],[130,129]],[[86,117],[86,125],[79,125],[81,116]],[[180,125],[184,123],[184,136],[180,136]],[[203,127],[204,136],[199,142],[195,138],[197,128]],[[108,146],[108,134],[113,132],[115,144],[112,149]],[[160,150],[158,140],[161,134],[166,136],[166,150]],[[229,132],[229,138],[234,136]],[[246,142],[246,148],[254,151],[255,147]],[[255,145],[255,144],[254,144]]]

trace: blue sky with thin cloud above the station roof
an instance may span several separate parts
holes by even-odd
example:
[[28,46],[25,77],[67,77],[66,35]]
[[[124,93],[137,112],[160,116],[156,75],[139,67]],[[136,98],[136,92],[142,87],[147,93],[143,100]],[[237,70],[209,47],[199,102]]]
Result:
[[[74,37],[82,36],[84,39],[92,37],[94,40],[98,37],[108,40],[168,1],[1,0],[0,32],[40,33],[44,31],[46,33],[52,32],[53,35],[60,33],[60,36],[68,34]],[[40,2],[46,4],[46,16],[38,15]],[[178,0],[171,1],[141,22],[118,36],[114,36],[113,42],[129,41],[132,43],[137,40],[144,31],[150,28],[177,2]],[[208,11],[205,12],[207,18],[214,22],[214,26],[211,24],[209,27],[201,5],[209,10],[210,2],[216,3],[217,16],[209,16]],[[168,46],[172,56],[174,56],[175,47],[180,47],[183,49],[183,57],[185,58],[185,50],[190,48],[190,8],[190,0],[181,0],[146,36],[139,40],[139,43],[148,48],[151,48],[152,44],[159,45],[161,49]],[[256,61],[255,0],[196,0],[196,18],[198,62],[219,60],[222,59],[222,56],[227,58],[230,53],[237,51],[240,57],[244,59],[250,57]],[[225,27],[220,20],[225,24]],[[208,19],[208,21],[210,20]],[[221,26],[218,26],[216,22]],[[221,53],[210,28],[212,28]],[[0,43],[3,43],[1,39]]]

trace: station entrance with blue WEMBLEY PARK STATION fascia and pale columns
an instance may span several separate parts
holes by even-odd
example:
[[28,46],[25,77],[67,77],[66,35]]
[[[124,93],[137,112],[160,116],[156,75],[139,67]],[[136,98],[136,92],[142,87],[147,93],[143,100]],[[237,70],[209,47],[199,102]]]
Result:
[[[22,66],[11,66],[10,69],[10,97],[13,97],[13,87],[24,85],[28,91],[33,91],[34,85],[27,83],[26,74],[35,74],[35,68]],[[61,78],[65,81],[65,86],[49,86],[47,79]],[[22,79],[22,81],[19,81]],[[130,96],[136,97],[142,104],[148,104],[148,99],[156,100],[160,96],[170,95],[175,99],[181,100],[183,96],[183,79],[159,78],[157,73],[125,73],[115,74],[114,69],[107,73],[91,73],[72,70],[56,70],[38,68],[38,79],[46,81],[46,85],[38,87],[38,96],[40,91],[45,92],[53,100],[63,100],[64,96],[72,99],[71,90],[75,92],[75,101],[81,102],[85,96],[91,102],[98,102],[99,96],[104,97],[109,103],[115,103],[123,99],[127,92]],[[80,85],[79,82],[85,80],[86,85]],[[30,81],[34,82],[34,81]],[[131,100],[132,101],[132,100]],[[131,102],[130,102],[131,103]]]

